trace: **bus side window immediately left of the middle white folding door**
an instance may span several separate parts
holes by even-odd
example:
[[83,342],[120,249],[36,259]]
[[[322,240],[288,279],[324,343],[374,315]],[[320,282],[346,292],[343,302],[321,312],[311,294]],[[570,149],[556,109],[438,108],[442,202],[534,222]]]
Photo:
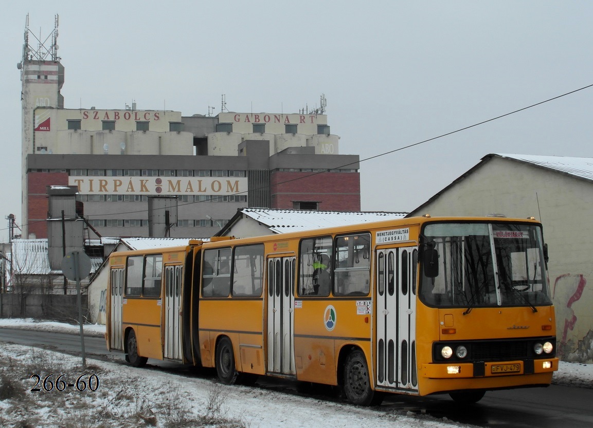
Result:
[[232,276],[233,296],[261,296],[263,245],[235,247]]

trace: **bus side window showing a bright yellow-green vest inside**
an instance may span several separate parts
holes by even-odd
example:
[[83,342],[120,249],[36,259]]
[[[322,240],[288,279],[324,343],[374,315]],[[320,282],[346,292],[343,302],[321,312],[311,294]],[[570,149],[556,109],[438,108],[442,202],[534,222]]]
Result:
[[303,239],[300,257],[299,295],[329,296],[331,237]]

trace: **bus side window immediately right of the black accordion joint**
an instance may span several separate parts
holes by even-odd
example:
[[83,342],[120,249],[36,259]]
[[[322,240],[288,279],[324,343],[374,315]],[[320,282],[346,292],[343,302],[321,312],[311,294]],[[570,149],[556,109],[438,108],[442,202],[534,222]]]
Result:
[[231,291],[231,248],[204,251],[202,296],[227,297]]

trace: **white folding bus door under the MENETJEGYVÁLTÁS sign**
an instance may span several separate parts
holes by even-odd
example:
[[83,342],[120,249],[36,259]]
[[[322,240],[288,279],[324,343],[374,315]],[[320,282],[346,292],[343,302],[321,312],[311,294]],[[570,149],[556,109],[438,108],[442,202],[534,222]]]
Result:
[[377,250],[377,385],[415,392],[417,247]]

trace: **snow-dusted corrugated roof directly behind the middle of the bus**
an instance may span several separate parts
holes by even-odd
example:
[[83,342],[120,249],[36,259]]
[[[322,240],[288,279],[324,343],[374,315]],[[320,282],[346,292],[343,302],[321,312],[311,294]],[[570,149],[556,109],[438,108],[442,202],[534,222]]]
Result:
[[406,216],[406,213],[403,212],[337,212],[268,208],[245,208],[241,210],[241,213],[266,225],[270,231],[278,234],[401,219]]

